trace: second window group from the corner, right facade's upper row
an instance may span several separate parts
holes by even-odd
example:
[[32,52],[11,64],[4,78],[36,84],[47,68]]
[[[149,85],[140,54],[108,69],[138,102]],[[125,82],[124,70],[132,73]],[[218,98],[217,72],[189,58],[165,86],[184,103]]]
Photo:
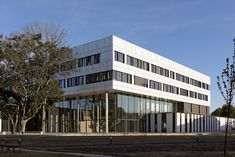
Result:
[[148,62],[142,61],[140,59],[137,59],[137,58],[134,58],[134,57],[131,57],[128,55],[126,56],[126,59],[127,59],[128,65],[149,71],[149,63]]

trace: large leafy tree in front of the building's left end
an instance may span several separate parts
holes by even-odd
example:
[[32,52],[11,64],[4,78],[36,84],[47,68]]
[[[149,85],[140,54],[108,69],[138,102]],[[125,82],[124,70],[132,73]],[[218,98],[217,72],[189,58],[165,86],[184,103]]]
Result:
[[[70,59],[71,49],[45,41],[41,34],[16,34],[0,40],[0,87],[5,86],[21,97],[19,108],[21,132],[42,106],[62,98],[57,72]],[[4,82],[9,82],[7,86]],[[2,112],[5,112],[4,110]]]

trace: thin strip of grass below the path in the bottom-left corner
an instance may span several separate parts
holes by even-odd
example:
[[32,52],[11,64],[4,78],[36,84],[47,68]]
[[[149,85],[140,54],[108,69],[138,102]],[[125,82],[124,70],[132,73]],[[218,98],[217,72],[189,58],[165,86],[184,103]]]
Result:
[[0,152],[0,157],[78,157],[67,154],[41,153],[41,152]]

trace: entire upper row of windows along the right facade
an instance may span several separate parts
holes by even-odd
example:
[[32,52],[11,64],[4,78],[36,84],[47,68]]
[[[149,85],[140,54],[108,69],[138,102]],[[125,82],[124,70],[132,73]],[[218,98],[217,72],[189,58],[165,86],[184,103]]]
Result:
[[[118,51],[115,51],[115,60],[122,62],[122,63],[125,63],[125,54],[118,52]],[[134,58],[134,57],[131,57],[128,55],[127,55],[127,64],[149,71],[149,63],[148,62],[142,61],[140,59],[137,59],[137,58]],[[197,81],[192,78],[189,79],[189,77],[187,77],[187,76],[184,76],[179,73],[175,73],[173,71],[159,67],[154,64],[151,64],[151,72],[165,76],[165,77],[170,77],[172,79],[176,79],[178,81],[181,81],[181,82],[184,82],[187,84],[191,84],[191,85],[194,85],[194,86],[206,89],[206,90],[209,90],[209,85],[206,83]]]

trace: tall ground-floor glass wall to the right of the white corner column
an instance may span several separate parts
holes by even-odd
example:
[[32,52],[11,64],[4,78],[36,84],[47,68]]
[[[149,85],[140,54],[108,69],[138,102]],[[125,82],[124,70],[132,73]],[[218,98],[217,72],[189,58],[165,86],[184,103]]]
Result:
[[109,99],[109,132],[157,132],[157,113],[173,112],[174,103],[166,100],[127,94]]

